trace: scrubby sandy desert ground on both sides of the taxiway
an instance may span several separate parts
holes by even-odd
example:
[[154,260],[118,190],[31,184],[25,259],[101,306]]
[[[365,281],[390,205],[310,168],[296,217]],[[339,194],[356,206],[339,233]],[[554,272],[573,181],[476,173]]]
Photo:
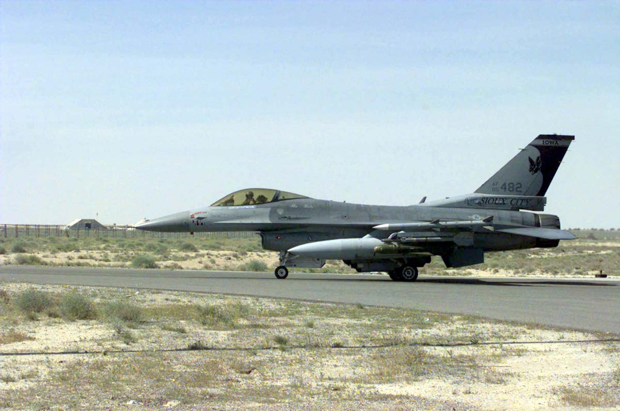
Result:
[[[620,275],[620,232],[582,234],[423,273]],[[0,264],[271,271],[277,255],[258,238],[50,236],[0,239]],[[619,348],[413,309],[0,283],[2,410],[620,409]]]

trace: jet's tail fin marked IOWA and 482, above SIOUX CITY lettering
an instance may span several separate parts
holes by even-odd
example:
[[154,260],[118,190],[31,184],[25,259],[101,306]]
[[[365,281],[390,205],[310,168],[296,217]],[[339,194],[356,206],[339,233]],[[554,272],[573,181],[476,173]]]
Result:
[[574,139],[575,136],[541,134],[475,193],[544,196]]

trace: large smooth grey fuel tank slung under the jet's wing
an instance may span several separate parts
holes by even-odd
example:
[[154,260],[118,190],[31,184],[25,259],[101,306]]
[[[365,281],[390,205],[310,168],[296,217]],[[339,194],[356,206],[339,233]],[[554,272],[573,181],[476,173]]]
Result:
[[374,248],[382,244],[384,244],[383,241],[373,237],[341,238],[301,244],[289,249],[288,253],[326,260],[355,260],[373,257]]

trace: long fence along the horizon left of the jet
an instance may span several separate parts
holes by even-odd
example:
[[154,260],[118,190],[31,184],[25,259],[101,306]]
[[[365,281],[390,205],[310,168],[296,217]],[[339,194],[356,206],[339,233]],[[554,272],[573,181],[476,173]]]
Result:
[[92,237],[92,238],[254,238],[255,231],[221,231],[213,233],[160,233],[157,231],[136,230],[130,225],[111,225],[103,228],[68,228],[66,225],[41,224],[0,224],[0,236],[19,237]]

